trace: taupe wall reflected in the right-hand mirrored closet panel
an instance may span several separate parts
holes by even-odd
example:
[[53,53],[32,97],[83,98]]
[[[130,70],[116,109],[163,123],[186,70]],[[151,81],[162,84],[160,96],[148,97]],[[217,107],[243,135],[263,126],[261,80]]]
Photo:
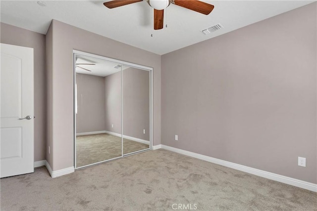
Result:
[[[123,135],[150,140],[150,72],[122,71]],[[143,134],[145,129],[146,134]]]

